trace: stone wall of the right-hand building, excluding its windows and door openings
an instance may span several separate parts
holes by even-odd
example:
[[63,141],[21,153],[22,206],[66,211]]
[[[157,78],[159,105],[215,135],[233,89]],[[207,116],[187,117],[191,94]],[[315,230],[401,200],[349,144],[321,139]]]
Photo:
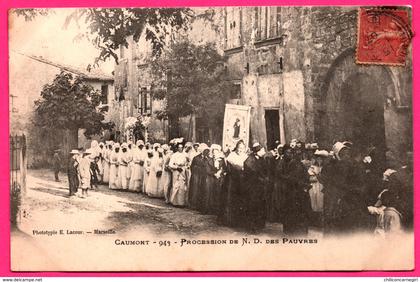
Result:
[[251,139],[266,143],[263,111],[269,107],[278,107],[284,117],[285,141],[299,138],[329,147],[334,138],[345,138],[337,133],[339,126],[346,131],[345,125],[326,128],[323,121],[325,115],[341,118],[346,108],[334,106],[331,97],[343,99],[357,83],[351,76],[365,74],[374,79],[372,84],[384,84],[370,94],[384,99],[386,149],[401,154],[401,148],[411,146],[411,54],[406,67],[355,64],[356,7],[281,7],[280,35],[265,41],[254,36],[255,8],[241,9],[242,46],[225,50],[225,55],[230,79],[242,84],[241,99],[232,102],[253,107]]

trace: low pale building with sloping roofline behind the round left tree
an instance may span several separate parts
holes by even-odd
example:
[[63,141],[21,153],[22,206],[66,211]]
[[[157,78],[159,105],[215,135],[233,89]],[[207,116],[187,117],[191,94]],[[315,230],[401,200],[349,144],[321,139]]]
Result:
[[[114,93],[113,77],[99,69],[87,72],[73,66],[53,62],[47,58],[11,50],[9,54],[10,134],[25,134],[27,136],[29,167],[48,165],[52,150],[63,146],[63,132],[44,136],[43,131],[32,123],[34,102],[41,97],[42,87],[51,83],[61,71],[81,76],[85,83],[101,91],[103,105],[107,105],[109,96]],[[79,130],[78,136],[74,136],[74,138],[78,139],[79,147],[89,147],[91,140],[85,138],[83,130]],[[100,136],[94,138],[100,139]]]

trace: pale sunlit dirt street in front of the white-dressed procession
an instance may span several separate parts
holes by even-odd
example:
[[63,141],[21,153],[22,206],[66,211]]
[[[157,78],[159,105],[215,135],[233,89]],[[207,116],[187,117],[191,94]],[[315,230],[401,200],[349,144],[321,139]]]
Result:
[[[118,234],[136,230],[152,234],[175,232],[189,237],[210,233],[246,235],[241,230],[218,225],[214,215],[176,208],[165,204],[163,199],[110,190],[104,185],[100,185],[98,190],[89,190],[86,199],[78,196],[70,198],[67,176],[63,173],[60,174],[60,182],[55,182],[50,170],[29,170],[27,182],[27,195],[22,207],[24,218],[20,224],[20,230],[26,234],[32,234],[35,227],[53,227],[68,230],[112,229]],[[279,236],[281,230],[281,224],[268,223],[263,235]]]

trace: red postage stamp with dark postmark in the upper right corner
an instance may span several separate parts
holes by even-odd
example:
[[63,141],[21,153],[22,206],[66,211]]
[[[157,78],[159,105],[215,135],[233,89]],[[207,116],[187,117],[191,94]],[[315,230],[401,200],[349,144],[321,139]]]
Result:
[[412,36],[407,10],[360,8],[356,63],[404,66]]

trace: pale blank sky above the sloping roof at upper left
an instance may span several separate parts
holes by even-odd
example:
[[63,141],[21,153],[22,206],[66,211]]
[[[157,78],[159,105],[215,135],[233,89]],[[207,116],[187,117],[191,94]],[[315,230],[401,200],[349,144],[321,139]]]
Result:
[[[99,54],[88,40],[75,40],[85,26],[72,22],[64,28],[66,16],[74,9],[51,9],[47,16],[32,21],[9,14],[9,50],[27,55],[42,56],[51,61],[86,69]],[[114,69],[114,61],[101,63],[99,68],[107,74]]]

